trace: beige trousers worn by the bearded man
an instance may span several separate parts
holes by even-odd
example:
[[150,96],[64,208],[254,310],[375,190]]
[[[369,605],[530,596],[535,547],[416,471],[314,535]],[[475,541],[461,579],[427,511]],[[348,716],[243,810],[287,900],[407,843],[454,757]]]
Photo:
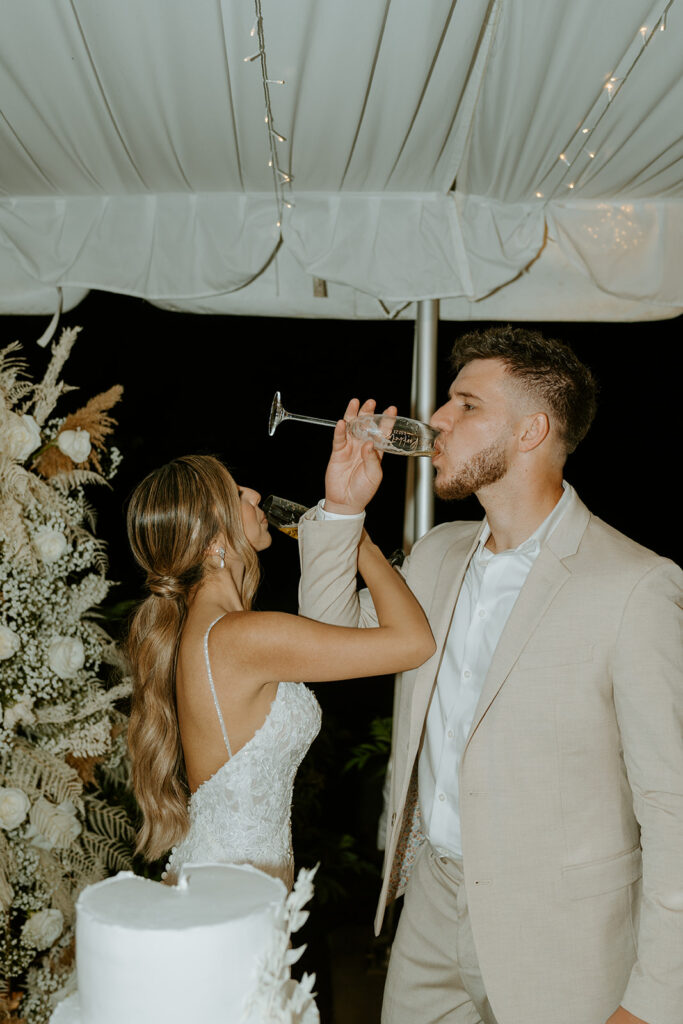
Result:
[[429,843],[405,890],[382,1024],[497,1024],[474,948],[462,861]]

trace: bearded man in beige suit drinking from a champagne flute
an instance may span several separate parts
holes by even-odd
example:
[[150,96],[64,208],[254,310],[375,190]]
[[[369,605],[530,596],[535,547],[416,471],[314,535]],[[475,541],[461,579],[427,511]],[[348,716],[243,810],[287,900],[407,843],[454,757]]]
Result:
[[[397,683],[383,1022],[681,1024],[680,570],[563,480],[595,409],[566,346],[494,328],[453,365],[434,488],[485,518],[402,569],[437,650]],[[380,479],[338,425],[299,528],[303,614],[376,625],[354,554]]]

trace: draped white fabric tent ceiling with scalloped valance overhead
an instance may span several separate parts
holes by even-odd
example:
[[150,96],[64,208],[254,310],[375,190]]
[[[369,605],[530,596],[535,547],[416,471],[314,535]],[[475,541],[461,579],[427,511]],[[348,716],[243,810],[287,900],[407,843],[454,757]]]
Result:
[[683,0],[2,0],[0,312],[677,315],[682,54]]

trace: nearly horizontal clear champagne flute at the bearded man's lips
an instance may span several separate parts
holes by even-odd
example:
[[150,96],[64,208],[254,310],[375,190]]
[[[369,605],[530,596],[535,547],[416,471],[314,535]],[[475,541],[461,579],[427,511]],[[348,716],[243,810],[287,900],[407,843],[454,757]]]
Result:
[[[316,423],[322,427],[335,427],[336,420],[322,420],[316,416],[301,416],[290,413],[283,406],[280,391],[275,391],[270,406],[268,433],[272,437],[284,420],[300,423]],[[376,449],[393,455],[434,454],[434,440],[438,430],[420,420],[410,420],[404,416],[387,416],[384,413],[360,413],[346,421],[346,430],[362,441],[372,441]]]

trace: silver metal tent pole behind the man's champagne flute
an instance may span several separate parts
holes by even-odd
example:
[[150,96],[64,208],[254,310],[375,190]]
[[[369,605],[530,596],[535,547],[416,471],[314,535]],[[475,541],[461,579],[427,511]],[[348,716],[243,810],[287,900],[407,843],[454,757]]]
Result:
[[[417,303],[417,307],[411,416],[426,423],[436,404],[438,299],[423,299]],[[433,475],[428,459],[409,459],[403,519],[403,550],[407,553],[434,523]]]

